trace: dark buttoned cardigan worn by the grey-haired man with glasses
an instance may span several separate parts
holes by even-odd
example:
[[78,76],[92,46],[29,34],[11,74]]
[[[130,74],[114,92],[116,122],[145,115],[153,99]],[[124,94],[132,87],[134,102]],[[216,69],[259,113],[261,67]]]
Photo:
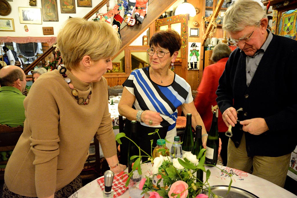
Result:
[[[238,120],[264,118],[269,128],[260,135],[244,132],[248,156],[283,156],[296,147],[296,57],[297,41],[273,34],[249,87],[244,52],[237,48],[228,59],[216,92],[220,111],[242,107]],[[231,140],[238,147],[242,125],[237,122],[232,132]]]

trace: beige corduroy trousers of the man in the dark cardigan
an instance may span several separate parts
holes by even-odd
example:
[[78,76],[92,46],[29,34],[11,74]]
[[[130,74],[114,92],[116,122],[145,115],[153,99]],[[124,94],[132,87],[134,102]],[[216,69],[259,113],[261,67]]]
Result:
[[244,134],[238,148],[236,148],[233,141],[229,139],[227,167],[248,173],[251,172],[251,168],[253,167],[253,175],[266,179],[282,188],[285,185],[290,158],[291,153],[279,157],[248,157]]

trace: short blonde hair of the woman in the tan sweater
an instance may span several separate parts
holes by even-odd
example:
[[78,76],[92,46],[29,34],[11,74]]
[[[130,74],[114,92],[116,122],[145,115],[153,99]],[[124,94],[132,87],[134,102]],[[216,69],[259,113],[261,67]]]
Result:
[[121,39],[106,22],[69,18],[59,31],[57,44],[65,67],[74,69],[83,56],[98,61],[115,55],[121,47]]

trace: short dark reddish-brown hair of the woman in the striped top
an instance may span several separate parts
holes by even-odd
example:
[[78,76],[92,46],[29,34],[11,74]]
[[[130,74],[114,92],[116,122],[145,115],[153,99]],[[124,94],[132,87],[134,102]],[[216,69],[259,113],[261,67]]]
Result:
[[177,31],[171,29],[157,31],[149,42],[149,47],[152,45],[168,49],[172,56],[175,51],[181,48],[181,36]]

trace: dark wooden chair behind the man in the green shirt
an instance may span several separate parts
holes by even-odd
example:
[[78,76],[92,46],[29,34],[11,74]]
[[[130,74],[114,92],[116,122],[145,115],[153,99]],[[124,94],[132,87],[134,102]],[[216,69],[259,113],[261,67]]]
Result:
[[[23,133],[23,129],[23,126],[10,127],[0,124],[0,152],[6,152],[5,157],[7,158],[7,160],[4,160],[0,154],[0,165],[7,164],[10,158],[10,151],[13,151],[15,148],[20,135]],[[0,169],[0,180],[4,180],[4,170],[5,168]]]

